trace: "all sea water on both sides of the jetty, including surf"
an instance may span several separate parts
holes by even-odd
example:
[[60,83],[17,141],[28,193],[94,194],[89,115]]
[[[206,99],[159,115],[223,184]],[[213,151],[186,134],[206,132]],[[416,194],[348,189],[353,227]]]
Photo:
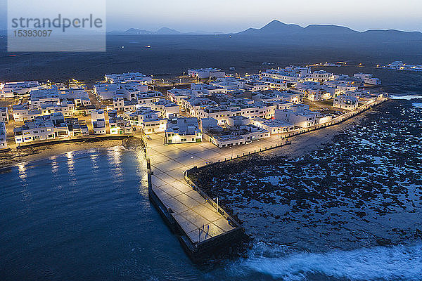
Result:
[[0,280],[422,280],[421,104],[378,108],[306,157],[205,176],[254,238],[212,268],[189,261],[151,206],[142,152],[4,171]]

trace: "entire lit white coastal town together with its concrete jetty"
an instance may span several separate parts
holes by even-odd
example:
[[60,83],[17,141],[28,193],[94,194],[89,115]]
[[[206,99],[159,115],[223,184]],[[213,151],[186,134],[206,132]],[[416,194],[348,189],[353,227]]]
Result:
[[[75,79],[1,84],[2,150],[139,138],[151,202],[193,260],[241,240],[242,226],[191,181],[192,169],[288,145],[295,135],[345,121],[388,100],[353,77],[288,66],[229,75],[188,70],[196,82],[159,88],[139,72],[106,74],[88,90]],[[291,141],[290,141],[291,143]]]

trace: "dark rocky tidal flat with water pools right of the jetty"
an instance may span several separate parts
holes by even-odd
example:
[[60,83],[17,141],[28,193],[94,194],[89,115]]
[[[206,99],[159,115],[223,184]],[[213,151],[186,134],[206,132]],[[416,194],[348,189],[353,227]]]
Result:
[[200,168],[192,180],[258,241],[324,250],[417,240],[420,122],[410,102],[389,101],[285,148]]

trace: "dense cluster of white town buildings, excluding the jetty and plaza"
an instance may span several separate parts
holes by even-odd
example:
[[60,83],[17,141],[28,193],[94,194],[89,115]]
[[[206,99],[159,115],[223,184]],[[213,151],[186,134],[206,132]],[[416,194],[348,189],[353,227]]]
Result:
[[187,74],[207,82],[155,91],[152,76],[129,72],[106,74],[92,90],[76,80],[2,83],[0,147],[163,133],[163,145],[206,141],[225,148],[324,124],[385,97],[363,88],[381,84],[363,73],[288,66],[244,77],[215,68]]

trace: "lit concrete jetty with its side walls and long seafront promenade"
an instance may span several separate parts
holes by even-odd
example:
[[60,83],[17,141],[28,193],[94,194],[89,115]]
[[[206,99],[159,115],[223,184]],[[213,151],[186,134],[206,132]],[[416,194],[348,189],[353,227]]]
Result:
[[143,137],[151,202],[174,233],[177,233],[192,259],[202,259],[217,250],[230,247],[240,239],[242,226],[218,206],[217,200],[208,197],[188,178],[189,170],[288,145],[291,142],[287,138],[291,136],[339,124],[385,100],[388,98],[347,112],[326,124],[230,148],[217,148],[207,142],[163,145],[164,133],[152,134],[148,141]]

